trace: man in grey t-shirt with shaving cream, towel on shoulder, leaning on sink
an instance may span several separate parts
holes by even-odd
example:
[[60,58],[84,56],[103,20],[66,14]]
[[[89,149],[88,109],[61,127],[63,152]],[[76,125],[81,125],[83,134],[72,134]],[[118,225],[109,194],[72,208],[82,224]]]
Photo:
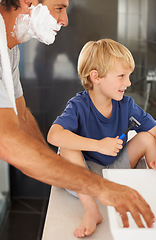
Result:
[[[17,45],[32,37],[46,44],[53,43],[60,27],[68,25],[68,4],[68,0],[45,0],[42,4],[37,0],[12,0],[11,3],[1,0],[0,45],[3,43],[4,46],[0,47],[0,158],[32,178],[91,195],[102,204],[114,206],[121,214],[124,226],[128,226],[127,212],[130,211],[139,227],[143,227],[140,214],[151,227],[154,215],[135,190],[109,182],[57,156],[45,143],[35,119],[26,108],[18,78]],[[9,75],[7,53],[4,56],[3,51],[6,37],[12,76]],[[12,82],[8,80],[11,78],[14,81],[12,88]]]

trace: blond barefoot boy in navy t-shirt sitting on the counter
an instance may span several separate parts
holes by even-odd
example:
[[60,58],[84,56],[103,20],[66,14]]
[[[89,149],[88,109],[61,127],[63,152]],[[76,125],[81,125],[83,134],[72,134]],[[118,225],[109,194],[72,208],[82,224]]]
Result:
[[[60,147],[61,156],[101,175],[103,168],[134,168],[145,155],[148,167],[156,168],[156,122],[133,99],[124,96],[131,85],[134,60],[123,45],[103,39],[88,42],[78,60],[78,74],[84,92],[67,103],[48,133],[48,142]],[[119,136],[133,116],[139,127],[127,143]],[[85,162],[84,162],[85,160]],[[102,221],[95,200],[78,193],[84,217],[74,234],[92,234]],[[126,227],[126,226],[125,226]]]

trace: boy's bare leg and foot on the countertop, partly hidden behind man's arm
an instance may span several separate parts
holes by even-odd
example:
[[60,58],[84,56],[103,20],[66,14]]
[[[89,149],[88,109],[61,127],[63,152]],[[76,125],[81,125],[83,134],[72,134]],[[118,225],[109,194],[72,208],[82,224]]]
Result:
[[[86,167],[81,151],[73,151],[61,148],[60,155],[68,159],[72,163],[75,163],[82,167]],[[97,224],[102,221],[102,215],[93,197],[80,193],[77,193],[77,195],[84,208],[83,219],[80,225],[74,231],[74,235],[80,238],[91,235],[96,230]]]

